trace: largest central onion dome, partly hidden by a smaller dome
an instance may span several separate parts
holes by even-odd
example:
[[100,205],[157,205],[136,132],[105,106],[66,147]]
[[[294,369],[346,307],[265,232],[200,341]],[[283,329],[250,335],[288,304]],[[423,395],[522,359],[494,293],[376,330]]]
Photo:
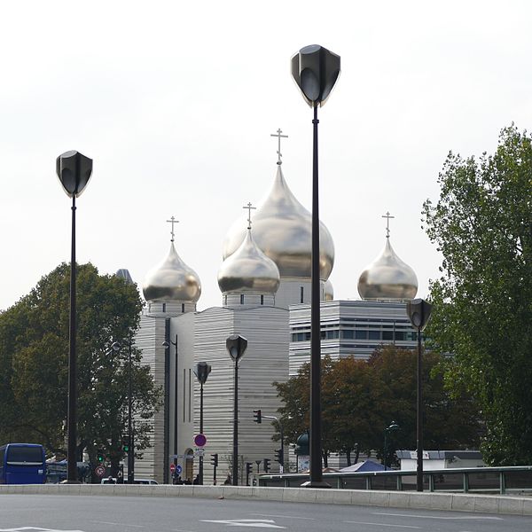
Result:
[[[269,194],[254,214],[253,235],[257,246],[278,266],[281,278],[310,278],[312,216],[296,200],[286,184],[281,165]],[[231,226],[223,243],[223,259],[239,248],[245,237],[242,218]],[[320,278],[326,280],[334,265],[331,233],[320,222]]]

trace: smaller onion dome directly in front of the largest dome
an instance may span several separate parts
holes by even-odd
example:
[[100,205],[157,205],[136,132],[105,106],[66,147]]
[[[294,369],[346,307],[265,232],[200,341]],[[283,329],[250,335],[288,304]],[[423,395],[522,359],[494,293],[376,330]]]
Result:
[[276,293],[279,284],[278,267],[257,247],[248,229],[239,249],[225,259],[218,271],[220,290]]

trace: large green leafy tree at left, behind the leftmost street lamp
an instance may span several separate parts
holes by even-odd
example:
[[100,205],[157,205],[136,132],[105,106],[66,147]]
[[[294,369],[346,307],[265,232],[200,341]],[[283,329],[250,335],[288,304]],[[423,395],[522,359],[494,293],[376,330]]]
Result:
[[[0,314],[0,438],[42,442],[66,454],[69,265],[43,277],[27,296]],[[127,434],[129,348],[142,309],[135,286],[100,276],[91,264],[77,267],[78,458],[96,462],[104,450],[113,470]],[[111,348],[114,340],[122,344]],[[148,444],[147,419],[160,403],[141,354],[131,349],[135,448]]]

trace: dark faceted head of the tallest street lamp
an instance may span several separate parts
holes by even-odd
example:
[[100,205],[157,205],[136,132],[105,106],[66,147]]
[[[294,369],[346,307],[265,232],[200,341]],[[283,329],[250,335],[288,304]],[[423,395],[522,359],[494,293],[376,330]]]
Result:
[[292,77],[309,106],[324,106],[340,75],[340,56],[319,44],[305,46],[291,59]]

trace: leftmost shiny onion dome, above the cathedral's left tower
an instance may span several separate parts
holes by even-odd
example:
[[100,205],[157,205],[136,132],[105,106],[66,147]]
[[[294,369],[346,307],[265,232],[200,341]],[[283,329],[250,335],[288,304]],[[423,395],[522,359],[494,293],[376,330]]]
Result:
[[198,274],[187,266],[176,252],[174,242],[166,259],[146,275],[142,291],[146,301],[192,301],[200,299]]

